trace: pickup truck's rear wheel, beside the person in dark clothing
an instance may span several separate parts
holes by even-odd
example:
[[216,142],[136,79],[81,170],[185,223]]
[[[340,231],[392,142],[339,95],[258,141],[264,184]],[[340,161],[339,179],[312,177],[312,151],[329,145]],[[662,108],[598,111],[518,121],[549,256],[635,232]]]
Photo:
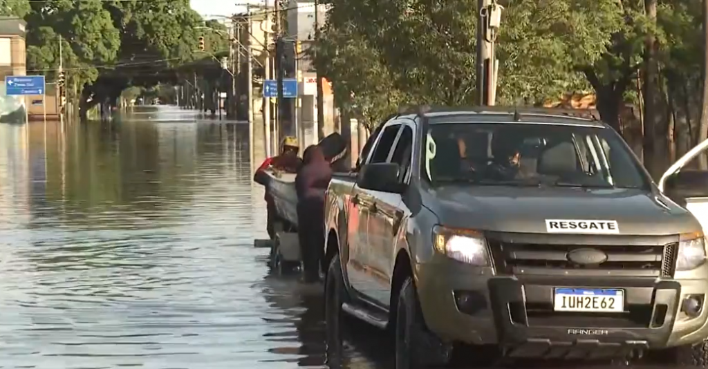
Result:
[[327,278],[324,281],[324,317],[327,325],[327,356],[328,362],[341,363],[342,357],[342,331],[344,325],[344,312],[342,304],[347,299],[344,287],[342,266],[339,255],[335,255],[329,263]]

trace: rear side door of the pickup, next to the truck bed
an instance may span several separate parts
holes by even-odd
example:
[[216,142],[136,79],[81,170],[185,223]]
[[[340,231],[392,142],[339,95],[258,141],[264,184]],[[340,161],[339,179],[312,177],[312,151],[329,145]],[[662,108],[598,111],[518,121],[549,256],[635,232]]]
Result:
[[[395,121],[384,125],[365,164],[386,161],[400,128],[400,123]],[[376,232],[372,229],[371,220],[372,213],[376,214],[378,211],[377,192],[355,185],[347,220],[352,233],[349,237],[349,259],[346,265],[349,285],[369,299],[376,294],[377,288],[375,270],[372,268],[375,260],[372,260],[374,255],[371,241],[372,238],[375,239],[371,237],[372,232]]]

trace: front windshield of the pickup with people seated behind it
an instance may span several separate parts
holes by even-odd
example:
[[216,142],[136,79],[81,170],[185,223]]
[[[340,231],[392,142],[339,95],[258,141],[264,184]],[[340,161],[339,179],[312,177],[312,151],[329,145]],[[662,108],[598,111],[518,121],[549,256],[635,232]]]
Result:
[[539,123],[435,123],[424,177],[442,185],[649,188],[619,135],[604,127]]

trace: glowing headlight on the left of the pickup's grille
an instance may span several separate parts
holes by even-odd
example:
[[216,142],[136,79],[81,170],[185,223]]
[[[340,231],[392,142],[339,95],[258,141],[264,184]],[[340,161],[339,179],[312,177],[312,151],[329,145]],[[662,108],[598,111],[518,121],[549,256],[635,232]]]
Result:
[[433,244],[440,253],[462,263],[489,265],[486,241],[480,232],[435,226]]

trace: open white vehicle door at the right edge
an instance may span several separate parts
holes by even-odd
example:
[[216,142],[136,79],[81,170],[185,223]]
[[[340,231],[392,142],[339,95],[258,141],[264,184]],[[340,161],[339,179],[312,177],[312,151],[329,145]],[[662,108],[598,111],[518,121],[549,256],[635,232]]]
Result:
[[[678,159],[661,176],[658,188],[666,193],[672,200],[683,205],[701,223],[704,234],[708,233],[708,171],[690,170],[683,171],[683,167],[699,155],[706,154],[708,140],[701,142],[696,147]],[[675,176],[675,188],[667,188],[667,181]]]

